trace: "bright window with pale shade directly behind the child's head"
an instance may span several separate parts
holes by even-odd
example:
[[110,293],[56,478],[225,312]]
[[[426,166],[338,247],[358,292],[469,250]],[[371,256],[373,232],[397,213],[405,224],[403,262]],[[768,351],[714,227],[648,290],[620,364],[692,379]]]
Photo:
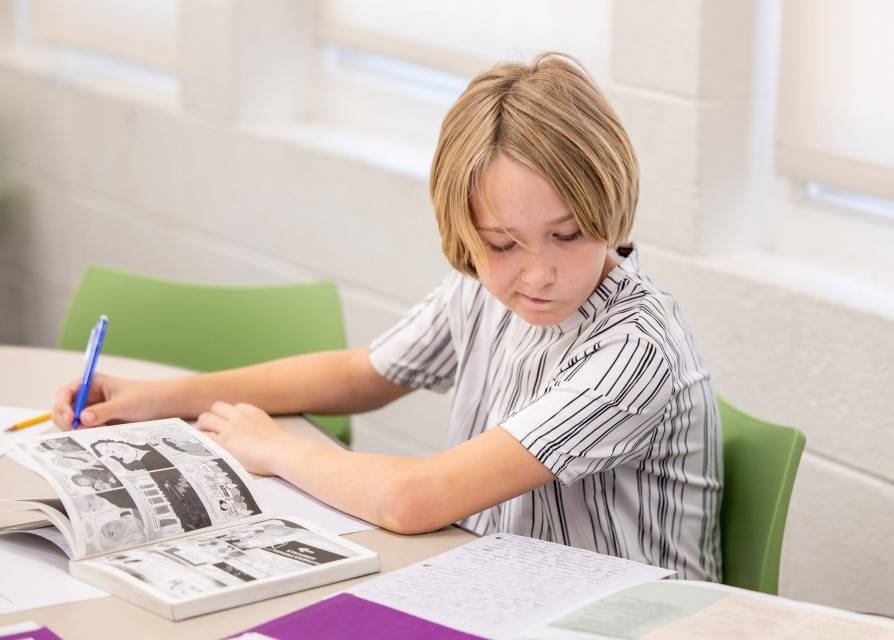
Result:
[[557,49],[573,52],[595,77],[610,77],[611,5],[318,0],[314,37],[325,64],[305,115],[417,146],[414,158],[430,159],[446,110],[472,76],[499,60]]

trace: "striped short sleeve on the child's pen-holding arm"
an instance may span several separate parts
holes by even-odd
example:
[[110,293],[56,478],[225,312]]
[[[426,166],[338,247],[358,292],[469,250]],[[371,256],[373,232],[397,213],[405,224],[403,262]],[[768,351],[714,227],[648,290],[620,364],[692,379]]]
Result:
[[444,392],[454,383],[456,351],[450,331],[456,278],[448,276],[394,327],[370,345],[370,362],[391,382]]

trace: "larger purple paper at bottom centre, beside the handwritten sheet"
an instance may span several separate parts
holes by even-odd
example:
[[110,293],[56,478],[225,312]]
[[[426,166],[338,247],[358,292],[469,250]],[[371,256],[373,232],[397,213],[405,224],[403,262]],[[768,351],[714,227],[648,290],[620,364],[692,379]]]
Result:
[[277,640],[482,640],[349,593],[320,600],[247,631]]

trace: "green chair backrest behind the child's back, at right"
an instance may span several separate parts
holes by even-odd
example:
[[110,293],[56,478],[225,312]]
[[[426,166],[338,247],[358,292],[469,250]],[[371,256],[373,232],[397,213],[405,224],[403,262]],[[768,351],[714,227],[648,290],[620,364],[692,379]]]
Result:
[[792,486],[806,439],[717,399],[723,426],[723,582],[772,595]]

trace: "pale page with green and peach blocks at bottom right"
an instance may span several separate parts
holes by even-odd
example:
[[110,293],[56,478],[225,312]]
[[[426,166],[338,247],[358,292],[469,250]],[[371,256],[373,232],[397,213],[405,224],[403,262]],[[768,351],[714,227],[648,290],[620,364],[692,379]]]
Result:
[[894,620],[709,583],[636,585],[527,629],[528,640],[894,640]]

